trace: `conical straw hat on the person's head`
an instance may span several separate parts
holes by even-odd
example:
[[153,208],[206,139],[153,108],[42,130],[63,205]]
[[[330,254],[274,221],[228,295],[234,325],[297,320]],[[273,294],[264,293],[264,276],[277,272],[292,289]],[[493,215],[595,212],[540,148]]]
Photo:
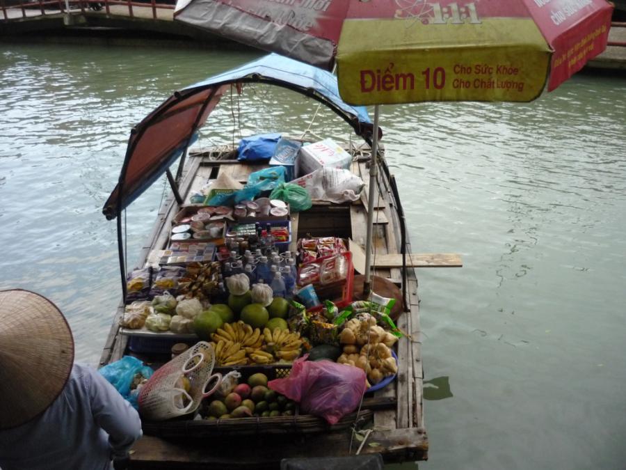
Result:
[[73,363],[72,331],[56,305],[28,290],[0,291],[0,429],[44,412]]

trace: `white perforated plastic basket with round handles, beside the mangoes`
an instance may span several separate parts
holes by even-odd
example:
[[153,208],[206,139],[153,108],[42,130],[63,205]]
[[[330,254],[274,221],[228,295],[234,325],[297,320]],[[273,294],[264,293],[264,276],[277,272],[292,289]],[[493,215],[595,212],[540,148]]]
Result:
[[[139,392],[141,416],[152,421],[163,421],[195,412],[202,399],[214,393],[222,381],[220,373],[211,375],[214,364],[215,352],[205,341],[200,341],[164,364]],[[191,384],[189,393],[180,386],[182,375]],[[215,382],[215,385],[207,391],[211,382]],[[183,406],[183,397],[188,400],[186,406]]]

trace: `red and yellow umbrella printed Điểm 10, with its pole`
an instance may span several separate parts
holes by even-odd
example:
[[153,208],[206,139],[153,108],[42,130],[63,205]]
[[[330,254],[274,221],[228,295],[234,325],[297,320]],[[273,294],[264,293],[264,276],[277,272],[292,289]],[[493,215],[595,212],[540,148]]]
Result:
[[534,100],[605,49],[612,11],[605,0],[179,0],[175,20],[337,65],[342,99],[376,105],[372,205],[379,104]]

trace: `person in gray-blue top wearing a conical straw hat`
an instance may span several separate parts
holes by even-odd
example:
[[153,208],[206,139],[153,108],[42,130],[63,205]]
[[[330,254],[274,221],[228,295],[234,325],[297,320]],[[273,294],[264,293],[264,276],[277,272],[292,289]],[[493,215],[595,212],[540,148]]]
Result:
[[74,363],[56,305],[28,290],[0,291],[0,468],[118,469],[141,435],[129,402]]

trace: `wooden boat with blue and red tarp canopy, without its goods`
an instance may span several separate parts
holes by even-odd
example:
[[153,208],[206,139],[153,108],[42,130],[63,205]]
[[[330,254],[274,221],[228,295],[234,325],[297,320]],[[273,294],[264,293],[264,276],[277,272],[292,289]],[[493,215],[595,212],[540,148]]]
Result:
[[[207,181],[216,180],[220,174],[246,182],[252,171],[263,167],[239,162],[234,158],[236,148],[233,146],[202,152],[188,151],[195,139],[195,130],[216,107],[220,96],[230,91],[241,91],[242,87],[245,90],[251,84],[280,86],[317,100],[335,111],[355,134],[362,137],[362,143],[346,146],[353,158],[351,170],[360,175],[366,186],[361,197],[357,201],[339,204],[314,201],[310,210],[290,216],[291,251],[295,251],[298,237],[306,234],[354,240],[350,245],[353,263],[355,271],[362,274],[363,247],[358,245],[358,241],[364,238],[367,219],[364,198],[367,194],[372,129],[367,113],[340,100],[332,75],[288,58],[271,55],[175,93],[131,132],[118,187],[104,207],[106,217],[117,217],[118,221],[125,298],[129,269],[124,263],[120,215],[138,194],[164,172],[167,173],[172,192],[164,201],[157,224],[138,260],[137,267],[143,267],[151,251],[168,246],[172,219],[181,207],[189,205],[191,194]],[[159,423],[144,422],[145,435],[134,446],[131,468],[278,468],[285,458],[344,457],[357,453],[380,453],[385,462],[425,460],[428,457],[422,407],[423,368],[417,279],[413,267],[460,266],[460,259],[454,255],[417,255],[410,252],[401,199],[383,152],[381,149],[379,153],[380,171],[376,185],[379,197],[374,205],[376,258],[372,263],[375,274],[373,288],[391,288],[403,297],[403,302],[396,308],[396,318],[397,326],[407,336],[396,344],[399,359],[396,378],[385,388],[367,393],[358,412],[348,414],[336,425],[328,425],[321,418],[310,415],[298,416],[297,419],[239,418],[214,422],[192,421],[187,416]],[[174,176],[168,168],[179,155],[183,157]],[[133,350],[131,343],[137,338],[121,334],[120,318],[124,308],[125,302],[122,301],[106,340],[101,366],[132,355],[158,368],[168,361],[169,350],[158,353]],[[139,339],[148,342],[163,340]],[[281,367],[287,366],[277,366]]]

